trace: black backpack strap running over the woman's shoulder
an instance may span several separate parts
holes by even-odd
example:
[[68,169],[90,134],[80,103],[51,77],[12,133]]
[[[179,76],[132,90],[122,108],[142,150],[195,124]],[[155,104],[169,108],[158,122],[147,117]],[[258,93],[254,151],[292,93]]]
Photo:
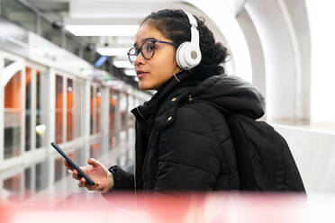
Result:
[[221,106],[209,101],[194,100],[194,102],[209,104],[224,114],[228,123],[228,127],[231,131],[231,139],[235,149],[236,162],[240,175],[240,190],[258,190],[258,188],[256,188],[256,180],[253,173],[249,142],[248,138],[246,137],[247,134],[245,133],[245,129],[237,118],[239,114],[231,113]]

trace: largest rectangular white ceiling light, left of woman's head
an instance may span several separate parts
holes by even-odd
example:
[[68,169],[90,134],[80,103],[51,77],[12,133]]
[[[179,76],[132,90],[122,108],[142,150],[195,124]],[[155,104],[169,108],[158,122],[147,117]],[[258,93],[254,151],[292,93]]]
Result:
[[133,36],[139,25],[68,24],[65,29],[75,36]]

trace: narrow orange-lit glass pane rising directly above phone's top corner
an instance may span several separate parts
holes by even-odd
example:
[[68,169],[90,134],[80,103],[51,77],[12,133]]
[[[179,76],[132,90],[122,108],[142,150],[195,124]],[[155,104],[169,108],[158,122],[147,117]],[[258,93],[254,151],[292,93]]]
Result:
[[63,142],[63,77],[56,76],[56,121],[55,121],[55,141]]

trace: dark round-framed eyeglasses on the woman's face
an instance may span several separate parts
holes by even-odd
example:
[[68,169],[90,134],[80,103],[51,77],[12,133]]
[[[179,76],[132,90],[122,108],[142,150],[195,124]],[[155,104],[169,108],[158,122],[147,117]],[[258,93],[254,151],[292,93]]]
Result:
[[140,46],[140,49],[136,49],[135,47],[128,50],[128,58],[132,65],[135,65],[135,60],[139,56],[139,53],[142,55],[143,58],[149,59],[153,58],[155,55],[155,44],[159,43],[166,43],[170,44],[172,46],[177,46],[174,42],[167,42],[167,41],[161,41],[161,40],[146,40],[143,42],[143,44]]

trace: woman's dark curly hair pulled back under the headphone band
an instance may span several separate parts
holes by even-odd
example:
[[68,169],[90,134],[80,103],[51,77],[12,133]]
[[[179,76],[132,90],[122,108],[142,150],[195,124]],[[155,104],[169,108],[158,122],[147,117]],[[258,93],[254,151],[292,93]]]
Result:
[[[202,59],[197,67],[203,65],[219,65],[226,61],[228,50],[221,42],[216,42],[213,32],[208,29],[204,21],[195,16],[198,23],[200,36],[200,50]],[[155,29],[160,31],[165,38],[172,40],[179,46],[185,41],[191,40],[191,24],[186,13],[183,10],[164,9],[158,12],[150,13],[140,25],[149,23]]]

